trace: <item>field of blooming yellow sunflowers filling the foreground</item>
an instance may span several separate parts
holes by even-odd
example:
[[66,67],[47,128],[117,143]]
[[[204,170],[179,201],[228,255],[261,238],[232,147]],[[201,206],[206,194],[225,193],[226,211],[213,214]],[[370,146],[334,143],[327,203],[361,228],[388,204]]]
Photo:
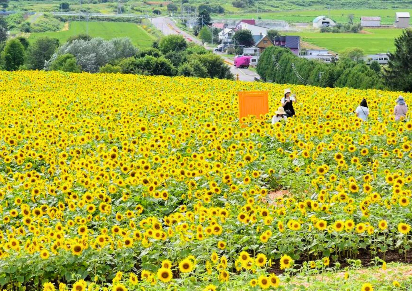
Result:
[[[410,259],[399,92],[295,85],[297,116],[272,125],[287,87],[0,72],[0,289],[292,290],[298,272]],[[239,122],[237,92],[257,90],[270,113]]]

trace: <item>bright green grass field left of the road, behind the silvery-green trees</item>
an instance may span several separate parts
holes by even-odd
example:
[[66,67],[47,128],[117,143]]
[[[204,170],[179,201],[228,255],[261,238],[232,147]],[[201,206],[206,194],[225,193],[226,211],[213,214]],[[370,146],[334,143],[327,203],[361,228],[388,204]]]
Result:
[[[88,26],[89,35],[91,37],[102,37],[106,40],[115,37],[129,37],[133,44],[139,48],[150,47],[155,40],[154,36],[147,33],[136,23],[89,21]],[[78,35],[80,33],[86,33],[86,22],[71,21],[68,30],[47,33],[30,33],[29,41],[33,41],[37,37],[49,36],[56,37],[60,40],[60,43],[64,43],[70,36]]]

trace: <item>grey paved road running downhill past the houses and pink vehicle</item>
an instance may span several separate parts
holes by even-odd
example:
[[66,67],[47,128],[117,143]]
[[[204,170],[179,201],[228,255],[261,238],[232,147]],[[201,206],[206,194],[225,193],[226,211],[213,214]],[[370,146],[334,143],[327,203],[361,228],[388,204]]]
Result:
[[[157,29],[162,31],[164,35],[179,34],[185,37],[188,41],[192,41],[192,42],[202,45],[200,40],[198,40],[195,37],[192,37],[192,35],[190,35],[189,33],[178,28],[176,24],[169,17],[151,18],[150,21]],[[206,49],[213,49],[213,48],[206,46]],[[256,72],[253,72],[251,70],[235,68],[232,60],[230,60],[229,58],[226,58],[224,55],[220,54],[220,56],[225,60],[225,63],[229,65],[230,71],[235,76],[239,75],[239,80],[251,82],[251,81],[255,81],[255,77],[259,77],[259,75]]]

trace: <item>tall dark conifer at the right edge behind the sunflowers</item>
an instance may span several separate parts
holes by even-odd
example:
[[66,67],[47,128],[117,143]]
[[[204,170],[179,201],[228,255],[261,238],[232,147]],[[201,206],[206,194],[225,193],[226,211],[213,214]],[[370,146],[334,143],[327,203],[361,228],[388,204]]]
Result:
[[393,90],[412,92],[412,30],[403,30],[395,39],[395,48],[384,68],[385,83]]

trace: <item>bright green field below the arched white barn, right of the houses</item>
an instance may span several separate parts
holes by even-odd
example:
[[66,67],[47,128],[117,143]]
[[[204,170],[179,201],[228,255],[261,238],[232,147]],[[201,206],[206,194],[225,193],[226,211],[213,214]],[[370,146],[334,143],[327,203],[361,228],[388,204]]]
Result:
[[339,52],[346,48],[359,47],[365,54],[386,53],[393,51],[393,41],[401,33],[396,28],[368,28],[367,33],[319,33],[300,32],[302,41],[315,44],[331,51]]

